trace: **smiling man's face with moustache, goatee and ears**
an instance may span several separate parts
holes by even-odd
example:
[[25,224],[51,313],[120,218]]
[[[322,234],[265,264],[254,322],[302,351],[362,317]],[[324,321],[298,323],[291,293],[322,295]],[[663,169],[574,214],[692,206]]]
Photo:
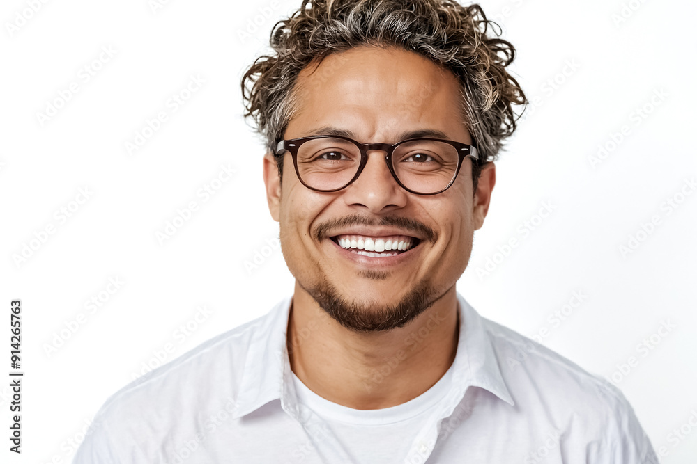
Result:
[[[332,128],[360,143],[393,144],[413,131],[472,142],[459,111],[457,78],[411,51],[361,47],[330,55],[301,72],[297,90],[298,111],[285,139]],[[495,177],[490,163],[473,195],[472,166],[465,159],[450,189],[416,195],[395,182],[384,152],[368,154],[360,177],[334,193],[303,186],[289,153],[282,184],[273,158],[267,154],[264,161],[270,211],[298,286],[358,331],[404,326],[454,287],[469,260],[473,232],[487,214]],[[364,246],[367,239],[392,239],[411,241],[411,248],[370,257],[337,243],[361,238]]]

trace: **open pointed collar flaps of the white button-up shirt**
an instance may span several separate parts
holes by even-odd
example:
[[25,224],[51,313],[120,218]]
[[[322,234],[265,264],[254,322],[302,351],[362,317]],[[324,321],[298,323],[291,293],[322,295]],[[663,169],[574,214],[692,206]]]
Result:
[[[284,298],[259,319],[259,325],[254,326],[256,330],[250,330],[249,350],[233,414],[236,419],[274,399],[281,399],[282,406],[291,415],[299,414],[286,347],[292,300],[292,296]],[[480,387],[514,406],[485,327],[487,319],[482,318],[459,293],[457,301],[460,330],[452,365],[452,388],[459,390],[457,396],[461,398],[468,387]]]

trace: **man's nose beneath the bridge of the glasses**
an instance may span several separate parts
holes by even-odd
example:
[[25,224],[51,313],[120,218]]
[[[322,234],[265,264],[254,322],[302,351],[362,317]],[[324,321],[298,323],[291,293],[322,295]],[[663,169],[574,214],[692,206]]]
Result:
[[392,177],[385,162],[385,152],[368,150],[367,154],[368,161],[362,173],[344,191],[346,205],[365,207],[372,213],[404,207],[407,192]]

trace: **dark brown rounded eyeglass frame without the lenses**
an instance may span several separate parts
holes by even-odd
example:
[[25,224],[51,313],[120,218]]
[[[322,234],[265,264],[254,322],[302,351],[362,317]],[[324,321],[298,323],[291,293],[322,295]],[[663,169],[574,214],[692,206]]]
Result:
[[[302,177],[300,177],[300,171],[298,170],[298,149],[300,148],[300,145],[307,141],[311,140],[316,140],[318,138],[340,138],[342,140],[348,141],[353,143],[356,147],[358,147],[358,150],[360,151],[360,163],[358,164],[358,170],[356,170],[355,175],[353,176],[353,179],[349,180],[346,185],[339,187],[339,189],[332,189],[332,190],[321,190],[321,189],[315,189],[314,187],[311,187],[307,184],[305,184],[305,181],[302,180]],[[411,189],[408,189],[404,184],[401,183],[399,178],[397,177],[397,174],[395,173],[395,168],[392,166],[392,152],[395,151],[395,148],[399,147],[399,145],[402,145],[407,142],[413,142],[413,141],[435,141],[435,142],[443,142],[447,143],[448,145],[452,145],[452,147],[455,147],[458,153],[458,159],[457,159],[457,168],[455,169],[455,174],[452,176],[452,179],[450,179],[450,184],[447,184],[447,186],[444,189],[441,189],[437,192],[434,193],[421,193],[417,191],[413,191]],[[460,168],[462,166],[462,161],[466,158],[469,157],[472,159],[472,162],[475,163],[476,166],[482,166],[484,164],[484,161],[482,161],[480,157],[480,153],[477,150],[477,146],[475,143],[472,145],[467,145],[466,143],[460,143],[460,142],[455,142],[455,141],[450,141],[450,140],[445,140],[442,138],[408,138],[406,140],[400,141],[395,143],[395,145],[390,145],[388,143],[360,143],[353,138],[348,138],[348,137],[343,137],[343,136],[312,136],[312,137],[301,137],[301,138],[291,138],[289,140],[282,140],[278,143],[276,147],[276,152],[273,154],[274,157],[282,157],[285,152],[289,152],[291,156],[293,157],[293,166],[296,169],[296,175],[298,176],[298,179],[300,180],[300,183],[302,185],[306,186],[310,190],[314,190],[316,192],[324,192],[324,193],[331,193],[331,192],[338,192],[339,190],[346,189],[349,185],[353,184],[355,182],[355,179],[358,179],[358,176],[360,176],[360,173],[363,172],[363,168],[365,168],[366,163],[368,162],[368,150],[382,150],[385,152],[385,163],[388,165],[388,169],[390,170],[390,173],[392,173],[392,177],[395,179],[397,184],[401,186],[402,189],[408,191],[409,193],[414,193],[415,195],[438,195],[438,193],[443,193],[447,189],[450,189],[450,186],[454,184],[455,179],[457,179],[457,175],[460,172]]]

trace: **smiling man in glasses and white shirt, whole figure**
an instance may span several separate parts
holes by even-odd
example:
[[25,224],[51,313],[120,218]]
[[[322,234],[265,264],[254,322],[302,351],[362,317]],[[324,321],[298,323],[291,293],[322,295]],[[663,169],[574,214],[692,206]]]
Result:
[[293,296],[115,394],[76,463],[657,462],[619,390],[455,289],[526,102],[487,26],[447,0],[277,24],[243,89]]

